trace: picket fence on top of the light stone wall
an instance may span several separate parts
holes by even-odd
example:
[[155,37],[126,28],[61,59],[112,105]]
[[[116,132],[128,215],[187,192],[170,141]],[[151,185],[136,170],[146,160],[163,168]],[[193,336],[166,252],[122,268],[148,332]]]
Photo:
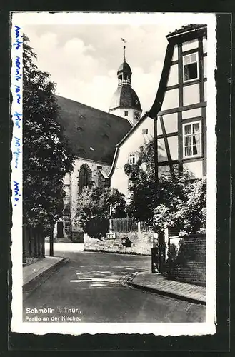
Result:
[[136,222],[134,218],[111,218],[110,228],[115,233],[150,231],[149,226],[145,222]]

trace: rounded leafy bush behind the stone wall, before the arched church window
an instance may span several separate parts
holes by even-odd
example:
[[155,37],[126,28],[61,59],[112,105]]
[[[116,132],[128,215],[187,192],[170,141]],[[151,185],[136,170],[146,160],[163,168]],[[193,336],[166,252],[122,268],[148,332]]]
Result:
[[123,218],[125,211],[124,195],[116,188],[85,187],[78,196],[74,223],[89,236],[101,238],[109,231],[109,218]]

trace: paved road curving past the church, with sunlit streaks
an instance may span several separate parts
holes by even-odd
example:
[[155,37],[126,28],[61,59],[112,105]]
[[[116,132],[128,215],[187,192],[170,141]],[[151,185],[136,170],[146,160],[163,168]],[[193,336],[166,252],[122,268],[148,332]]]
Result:
[[[76,251],[71,251],[75,246]],[[26,298],[24,321],[26,317],[36,322],[204,321],[204,306],[121,284],[134,271],[149,271],[150,257],[88,253],[69,243],[55,243],[54,255],[69,257],[70,261]]]

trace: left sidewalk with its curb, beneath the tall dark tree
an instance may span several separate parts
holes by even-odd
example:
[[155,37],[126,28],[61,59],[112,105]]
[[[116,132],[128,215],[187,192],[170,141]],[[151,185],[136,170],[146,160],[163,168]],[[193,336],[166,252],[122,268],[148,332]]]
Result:
[[35,263],[23,267],[23,294],[26,298],[31,291],[44,283],[51,274],[69,261],[68,258],[46,256]]

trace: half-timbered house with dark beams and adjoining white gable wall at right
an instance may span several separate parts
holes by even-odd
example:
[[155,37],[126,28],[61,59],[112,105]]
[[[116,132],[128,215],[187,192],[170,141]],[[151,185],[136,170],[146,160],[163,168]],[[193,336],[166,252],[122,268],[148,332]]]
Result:
[[[187,169],[206,175],[206,25],[188,25],[166,36],[168,45],[154,104],[116,145],[111,187],[128,196],[124,165],[134,164],[139,147],[156,139],[157,175]],[[176,170],[175,170],[176,169]]]

